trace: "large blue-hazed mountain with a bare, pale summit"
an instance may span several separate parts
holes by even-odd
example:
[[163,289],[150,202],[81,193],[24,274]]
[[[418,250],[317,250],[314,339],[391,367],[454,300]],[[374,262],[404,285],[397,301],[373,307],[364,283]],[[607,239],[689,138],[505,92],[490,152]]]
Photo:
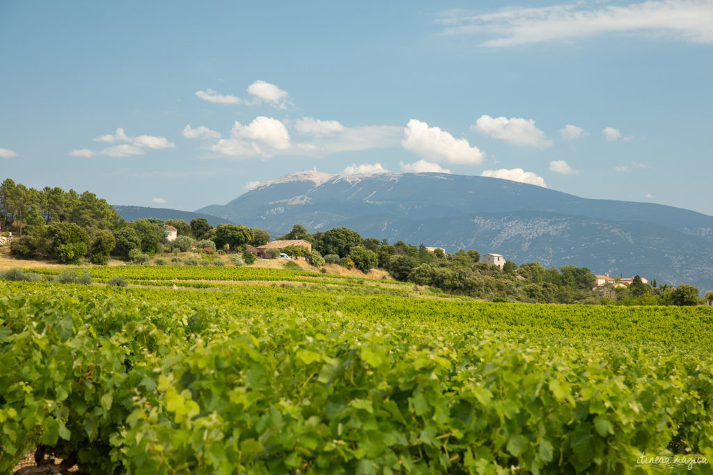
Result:
[[347,226],[389,242],[713,288],[713,216],[491,177],[299,172],[198,212],[279,233]]

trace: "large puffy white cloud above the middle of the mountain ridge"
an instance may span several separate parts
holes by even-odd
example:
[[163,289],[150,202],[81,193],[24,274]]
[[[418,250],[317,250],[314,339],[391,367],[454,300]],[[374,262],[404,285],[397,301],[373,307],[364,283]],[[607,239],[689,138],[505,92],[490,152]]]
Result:
[[471,147],[468,140],[456,139],[441,127],[429,127],[416,119],[406,124],[401,146],[436,162],[477,164],[485,159],[485,154],[478,147]]

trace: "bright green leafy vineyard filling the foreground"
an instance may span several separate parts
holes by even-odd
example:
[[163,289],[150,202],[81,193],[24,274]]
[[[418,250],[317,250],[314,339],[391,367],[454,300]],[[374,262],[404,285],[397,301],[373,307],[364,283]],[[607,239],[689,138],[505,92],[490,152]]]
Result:
[[0,281],[2,474],[36,447],[93,474],[659,473],[642,454],[713,454],[710,308],[90,270],[135,285]]

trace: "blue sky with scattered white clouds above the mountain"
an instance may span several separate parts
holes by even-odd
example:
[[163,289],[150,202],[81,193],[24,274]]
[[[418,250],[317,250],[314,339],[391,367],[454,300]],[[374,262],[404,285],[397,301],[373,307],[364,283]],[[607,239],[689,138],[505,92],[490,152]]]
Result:
[[193,210],[448,170],[713,214],[713,1],[342,3],[0,2],[0,179]]

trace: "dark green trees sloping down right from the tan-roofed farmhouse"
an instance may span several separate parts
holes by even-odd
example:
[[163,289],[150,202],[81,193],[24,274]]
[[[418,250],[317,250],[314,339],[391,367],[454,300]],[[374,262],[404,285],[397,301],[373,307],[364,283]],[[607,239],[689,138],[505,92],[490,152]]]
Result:
[[[545,268],[528,262],[518,266],[506,261],[503,268],[481,262],[473,249],[444,254],[429,251],[424,244],[414,246],[385,239],[362,239],[348,228],[335,228],[309,234],[295,224],[279,239],[305,239],[312,243],[327,263],[339,263],[367,272],[382,268],[399,281],[433,286],[447,293],[478,298],[506,299],[537,303],[600,303],[620,305],[697,305],[702,303],[698,289],[681,284],[656,286],[643,283],[639,276],[629,287],[596,288],[594,274],[585,267]],[[713,299],[713,293],[711,295]]]

